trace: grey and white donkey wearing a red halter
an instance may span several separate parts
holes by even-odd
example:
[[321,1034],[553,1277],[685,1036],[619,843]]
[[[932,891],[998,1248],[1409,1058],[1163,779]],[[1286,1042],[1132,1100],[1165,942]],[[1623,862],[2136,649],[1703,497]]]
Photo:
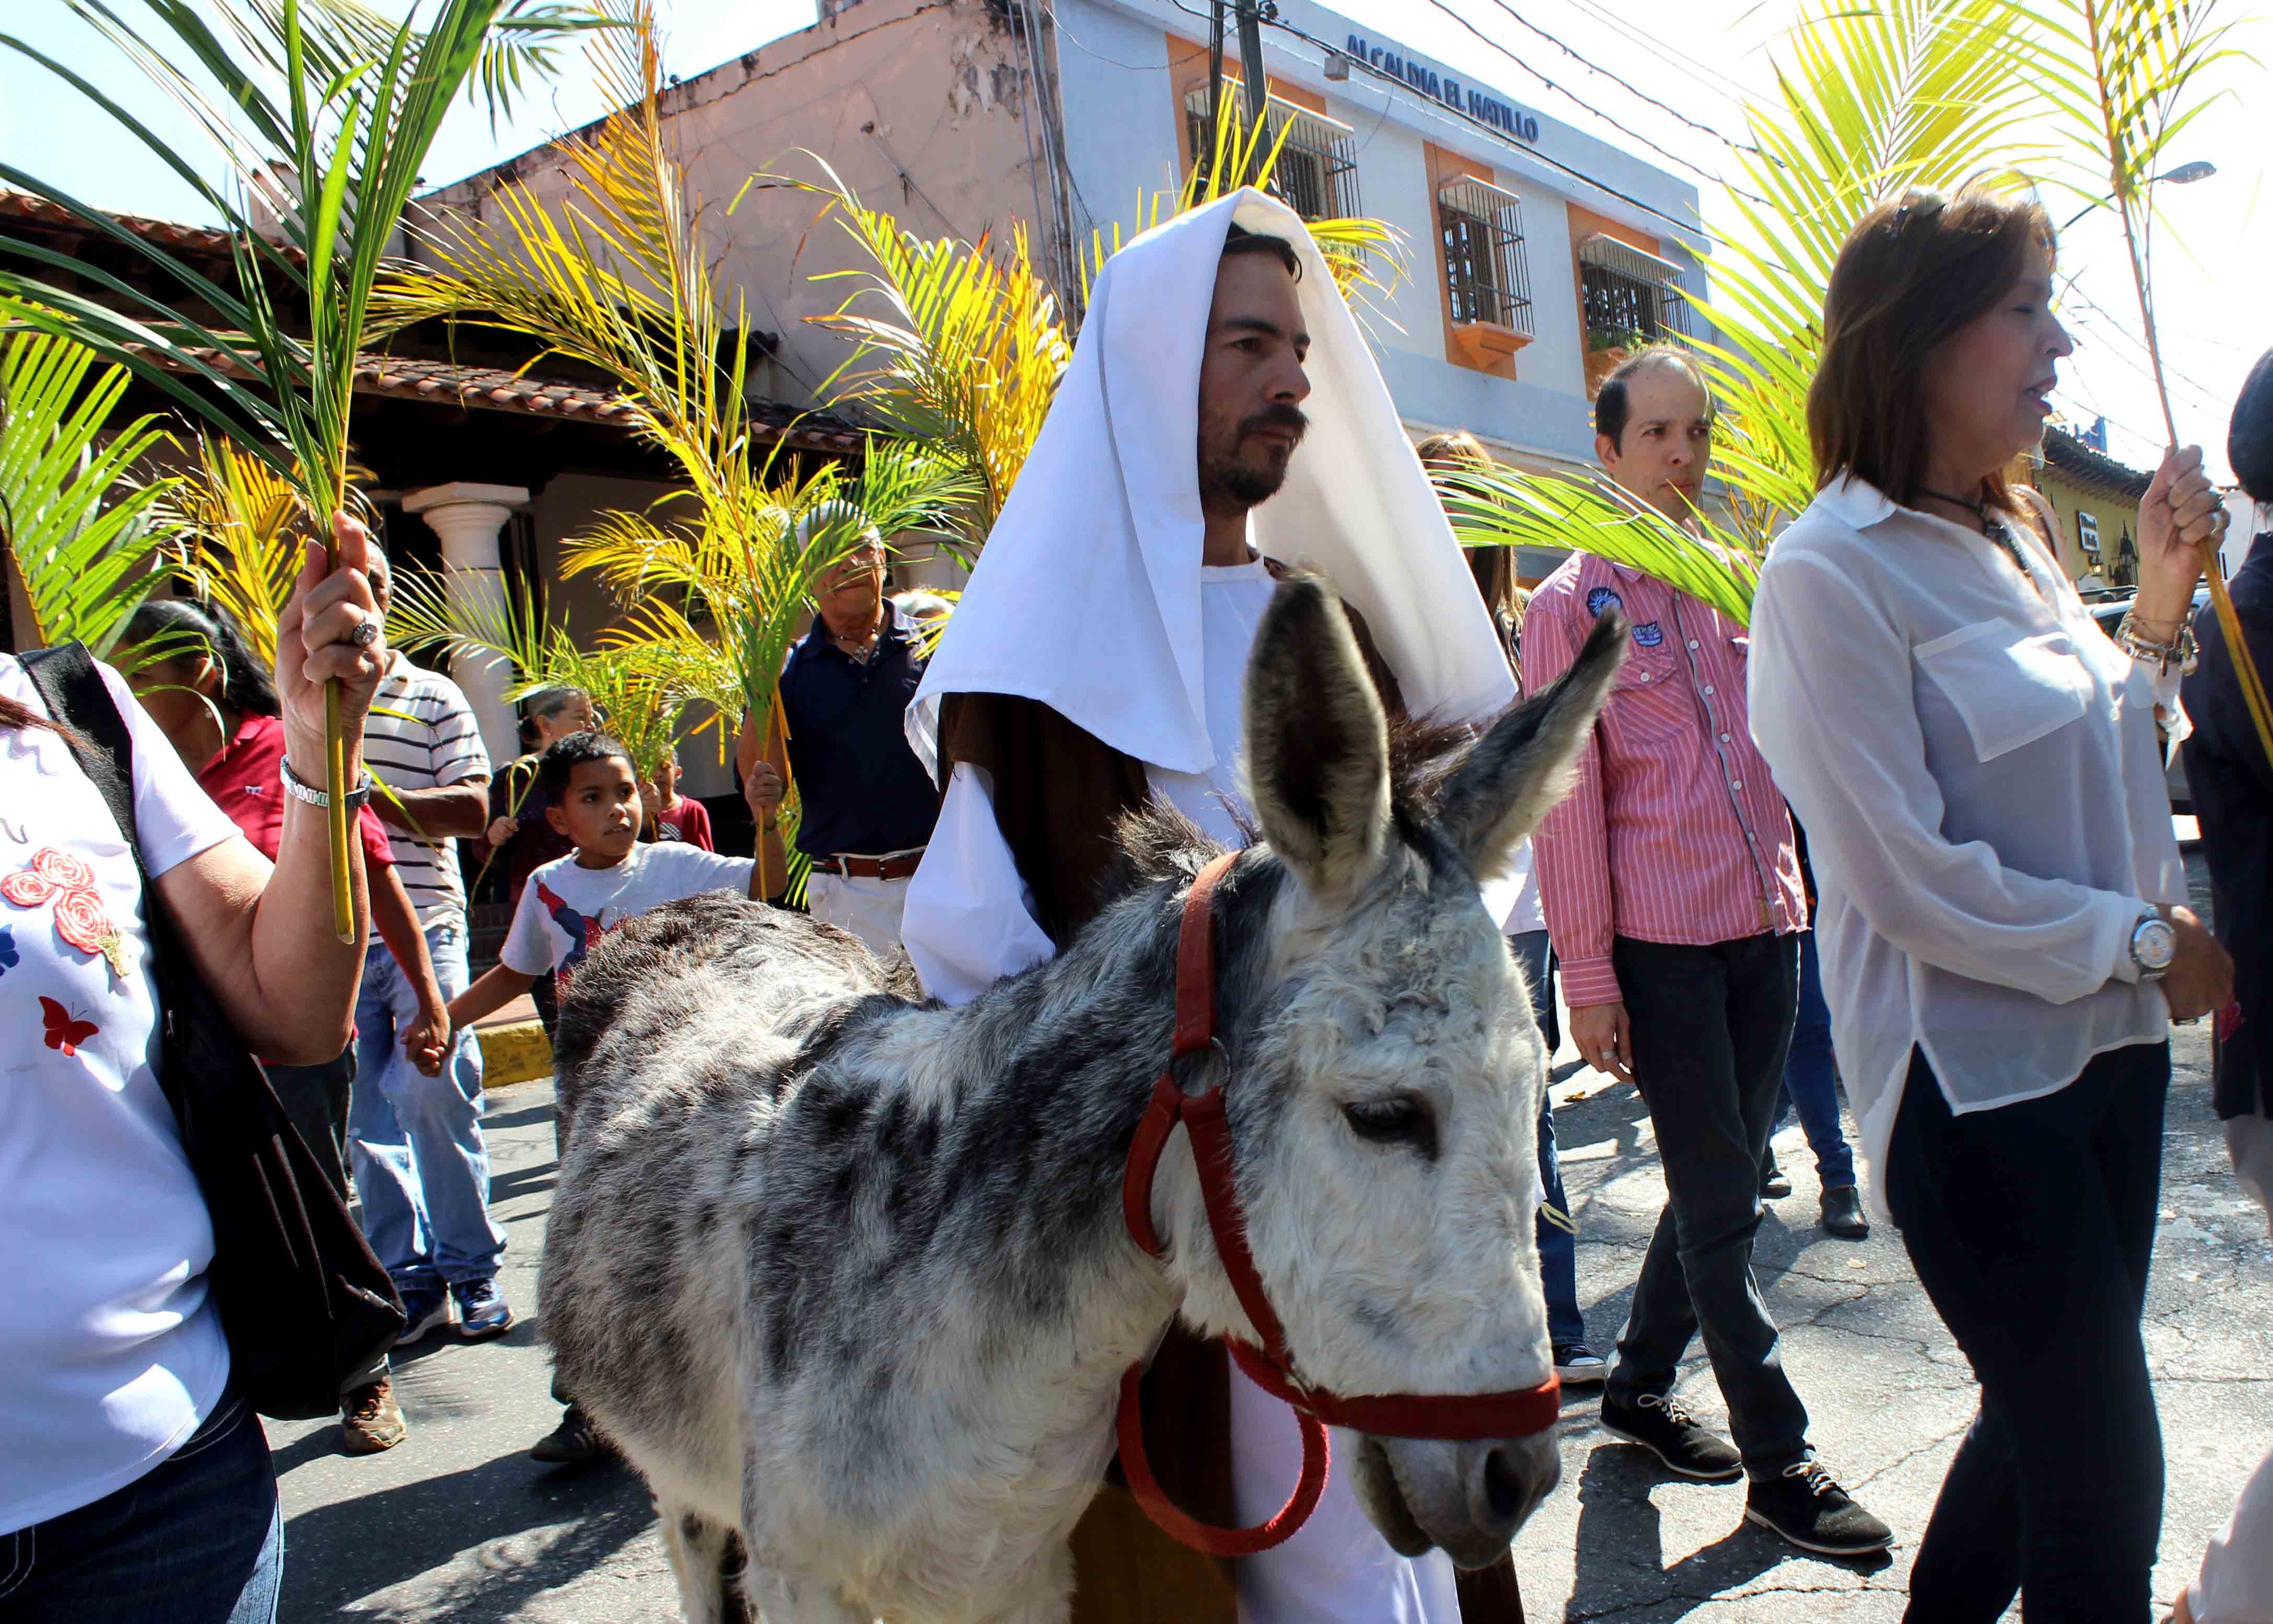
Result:
[[[1266,844],[1216,894],[1223,1055],[1202,1064],[1227,1067],[1255,1265],[1309,1385],[1548,1376],[1546,1053],[1477,873],[1564,794],[1621,657],[1607,614],[1564,682],[1416,792],[1391,782],[1339,605],[1293,580],[1257,632]],[[1168,1256],[1123,1226],[1180,905],[1216,848],[1171,812],[1121,837],[1116,898],[964,1008],[725,894],[630,921],[577,973],[543,1328],[648,1476],[691,1624],[743,1585],[766,1624],[1064,1619],[1123,1369],[1177,1315],[1255,1337],[1182,1133],[1152,1190]],[[1468,1567],[1559,1476],[1550,1433],[1350,1442],[1337,1465],[1384,1538]]]

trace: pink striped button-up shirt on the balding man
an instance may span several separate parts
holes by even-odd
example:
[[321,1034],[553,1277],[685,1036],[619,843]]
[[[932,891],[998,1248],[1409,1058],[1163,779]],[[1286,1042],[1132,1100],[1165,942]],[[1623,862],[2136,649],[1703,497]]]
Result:
[[1709,946],[1807,928],[1791,812],[1752,746],[1741,625],[1573,553],[1523,614],[1523,689],[1559,678],[1609,607],[1632,621],[1634,641],[1580,753],[1577,787],[1532,837],[1573,1008],[1621,999],[1612,937]]

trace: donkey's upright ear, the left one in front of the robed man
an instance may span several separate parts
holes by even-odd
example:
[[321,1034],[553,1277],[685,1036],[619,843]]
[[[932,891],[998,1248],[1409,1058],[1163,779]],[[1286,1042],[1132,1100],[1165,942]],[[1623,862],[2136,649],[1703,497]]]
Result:
[[1389,842],[1389,723],[1350,621],[1316,578],[1271,598],[1248,660],[1248,780],[1264,839],[1339,898]]

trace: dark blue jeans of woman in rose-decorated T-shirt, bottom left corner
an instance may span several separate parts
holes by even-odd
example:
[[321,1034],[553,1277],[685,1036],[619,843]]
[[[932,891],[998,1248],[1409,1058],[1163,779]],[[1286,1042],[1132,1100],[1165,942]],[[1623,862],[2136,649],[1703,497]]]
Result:
[[282,1579],[268,1437],[234,1392],[123,1490],[0,1533],[5,1624],[273,1624]]

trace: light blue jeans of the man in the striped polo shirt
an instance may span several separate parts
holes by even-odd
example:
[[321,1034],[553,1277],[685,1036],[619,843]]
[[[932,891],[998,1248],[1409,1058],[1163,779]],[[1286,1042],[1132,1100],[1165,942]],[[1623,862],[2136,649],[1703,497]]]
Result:
[[[466,928],[427,928],[441,996],[466,989]],[[489,1146],[482,1142],[482,1046],[457,1033],[441,1076],[425,1076],[402,1053],[400,1035],[418,1019],[418,992],[384,942],[364,960],[355,999],[355,1096],[348,1151],[364,1199],[364,1235],[396,1290],[436,1292],[486,1281],[505,1256],[505,1231],[489,1219]]]

